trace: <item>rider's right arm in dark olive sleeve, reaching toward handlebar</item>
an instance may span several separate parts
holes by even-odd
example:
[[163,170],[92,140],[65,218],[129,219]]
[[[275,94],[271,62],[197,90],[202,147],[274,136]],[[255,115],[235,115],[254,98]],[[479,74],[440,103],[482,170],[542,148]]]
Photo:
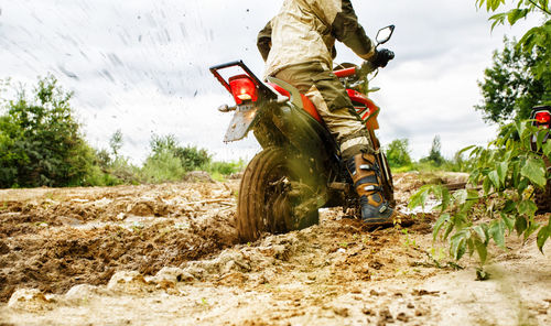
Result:
[[375,55],[375,45],[366,35],[364,28],[358,23],[358,17],[352,7],[350,0],[342,0],[342,9],[332,24],[332,33],[363,59],[370,59]]

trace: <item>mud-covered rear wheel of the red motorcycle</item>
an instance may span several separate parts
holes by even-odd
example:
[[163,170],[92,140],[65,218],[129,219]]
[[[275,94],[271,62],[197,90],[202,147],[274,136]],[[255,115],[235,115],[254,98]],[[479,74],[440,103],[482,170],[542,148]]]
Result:
[[296,214],[296,207],[304,202],[304,192],[298,189],[304,187],[301,175],[311,174],[304,171],[305,165],[280,148],[268,148],[249,162],[237,204],[241,241],[253,241],[262,232],[282,233],[318,222],[316,207],[304,210],[301,206],[302,213]]

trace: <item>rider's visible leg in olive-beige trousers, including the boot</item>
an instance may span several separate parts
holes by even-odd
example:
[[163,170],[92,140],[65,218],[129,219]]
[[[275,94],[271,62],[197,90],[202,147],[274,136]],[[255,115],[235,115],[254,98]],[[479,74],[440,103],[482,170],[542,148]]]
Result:
[[287,67],[276,77],[306,94],[334,134],[360,197],[361,218],[369,224],[391,221],[393,209],[381,196],[380,172],[366,127],[335,74],[313,63]]

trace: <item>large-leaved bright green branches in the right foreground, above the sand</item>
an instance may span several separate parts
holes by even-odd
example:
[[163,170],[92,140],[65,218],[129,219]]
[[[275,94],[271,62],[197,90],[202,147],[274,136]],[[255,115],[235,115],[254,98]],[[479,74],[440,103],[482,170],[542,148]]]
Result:
[[[518,133],[519,139],[512,135]],[[487,260],[490,240],[505,249],[506,233],[514,230],[525,241],[537,232],[537,244],[542,250],[551,236],[551,218],[547,225],[534,220],[537,206],[532,200],[533,187],[544,187],[551,175],[545,171],[542,156],[530,150],[530,139],[536,137],[538,148],[551,156],[551,142],[542,143],[543,132],[538,132],[529,121],[518,121],[506,128],[501,137],[488,148],[469,146],[471,156],[477,162],[469,176],[471,188],[451,194],[440,185],[425,185],[411,197],[409,207],[423,205],[430,194],[441,200],[440,217],[433,237],[450,241],[450,254],[456,260],[465,253],[478,254],[480,264]],[[482,184],[482,192],[476,187]],[[486,211],[476,205],[484,200]],[[486,214],[490,221],[476,221]]]

